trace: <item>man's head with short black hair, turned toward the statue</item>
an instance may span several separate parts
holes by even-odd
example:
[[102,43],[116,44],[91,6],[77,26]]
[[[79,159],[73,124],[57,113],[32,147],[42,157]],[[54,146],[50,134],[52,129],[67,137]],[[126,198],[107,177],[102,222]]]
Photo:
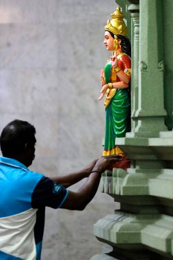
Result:
[[27,167],[34,160],[36,129],[29,122],[14,120],[1,133],[0,145],[3,156],[17,159]]

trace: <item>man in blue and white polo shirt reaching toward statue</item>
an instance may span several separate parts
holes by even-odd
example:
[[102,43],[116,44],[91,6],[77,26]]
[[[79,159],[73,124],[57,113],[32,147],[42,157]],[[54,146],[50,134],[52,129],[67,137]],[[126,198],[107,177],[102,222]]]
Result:
[[[28,169],[34,160],[36,129],[14,120],[0,137],[0,259],[39,260],[45,207],[83,210],[92,200],[104,172],[119,157],[101,157],[83,170],[48,178]],[[88,177],[77,191],[66,190]]]

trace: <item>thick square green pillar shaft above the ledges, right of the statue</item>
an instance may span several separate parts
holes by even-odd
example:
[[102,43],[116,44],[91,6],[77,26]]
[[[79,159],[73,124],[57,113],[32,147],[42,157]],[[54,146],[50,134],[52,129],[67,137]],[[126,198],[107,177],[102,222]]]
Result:
[[139,5],[142,12],[139,27],[139,107],[135,113],[138,117],[135,133],[156,136],[159,131],[166,130],[163,103],[162,0],[139,1]]

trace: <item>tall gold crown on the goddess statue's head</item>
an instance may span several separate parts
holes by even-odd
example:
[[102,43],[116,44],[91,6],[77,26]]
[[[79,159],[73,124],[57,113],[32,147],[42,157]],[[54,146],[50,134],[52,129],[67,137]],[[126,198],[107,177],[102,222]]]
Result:
[[124,23],[124,14],[121,12],[120,7],[116,8],[116,12],[111,14],[112,20],[107,20],[105,30],[111,31],[113,34],[120,34],[127,36],[127,26]]

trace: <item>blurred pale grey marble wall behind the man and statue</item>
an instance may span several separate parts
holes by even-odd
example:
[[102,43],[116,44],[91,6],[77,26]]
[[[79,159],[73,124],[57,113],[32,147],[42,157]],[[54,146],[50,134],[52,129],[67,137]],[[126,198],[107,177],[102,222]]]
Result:
[[[100,69],[110,55],[104,25],[114,10],[114,0],[0,0],[0,131],[15,118],[35,125],[32,170],[65,174],[101,155]],[[47,209],[42,260],[101,252],[92,224],[115,208],[98,190],[83,212]]]

